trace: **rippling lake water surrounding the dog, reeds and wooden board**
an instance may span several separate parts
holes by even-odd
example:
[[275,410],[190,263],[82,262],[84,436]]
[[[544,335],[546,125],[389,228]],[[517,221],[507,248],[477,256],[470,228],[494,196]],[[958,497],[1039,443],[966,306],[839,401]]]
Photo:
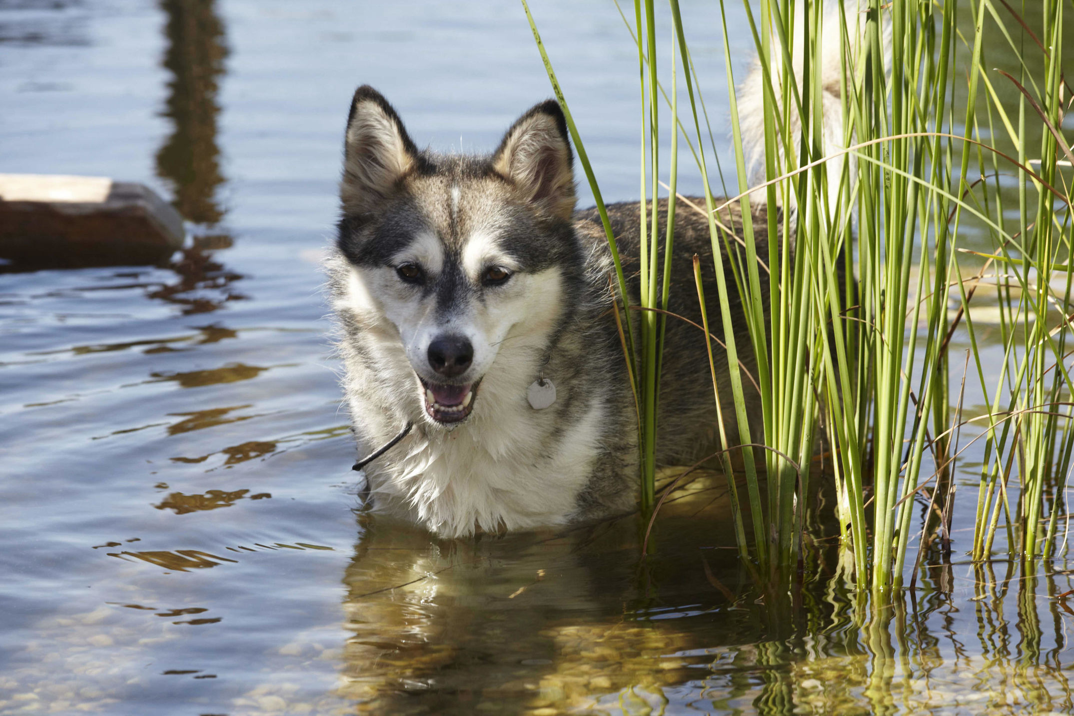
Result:
[[[685,12],[726,151],[711,4]],[[606,198],[636,198],[614,6],[534,14]],[[549,94],[510,2],[0,1],[0,171],[145,181],[193,234],[164,267],[0,275],[0,713],[1074,710],[1065,564],[972,566],[964,531],[870,622],[834,551],[752,586],[719,481],[645,562],[633,518],[444,542],[363,513],[318,262],[366,82],[466,150]]]

